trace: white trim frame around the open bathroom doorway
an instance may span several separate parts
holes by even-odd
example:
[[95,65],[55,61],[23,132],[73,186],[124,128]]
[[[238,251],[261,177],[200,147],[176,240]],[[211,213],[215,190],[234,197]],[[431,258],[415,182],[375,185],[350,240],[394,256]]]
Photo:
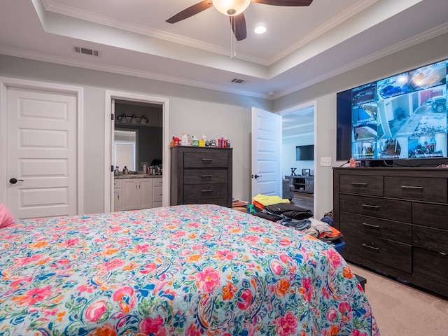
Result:
[[[104,164],[106,174],[104,174],[104,212],[111,212],[113,203],[113,172],[111,172],[111,151],[112,151],[112,100],[128,100],[130,102],[144,102],[150,104],[160,104],[162,106],[162,161],[165,174],[162,174],[162,205],[169,205],[169,99],[146,94],[135,94],[132,92],[120,92],[106,90],[105,96],[105,123],[104,123]],[[114,127],[115,128],[115,127]],[[109,174],[107,174],[109,173]]]

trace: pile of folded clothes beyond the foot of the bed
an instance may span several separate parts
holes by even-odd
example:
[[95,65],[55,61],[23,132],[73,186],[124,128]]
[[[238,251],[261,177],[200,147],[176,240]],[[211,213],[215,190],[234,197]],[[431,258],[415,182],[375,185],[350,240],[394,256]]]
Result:
[[248,205],[248,213],[326,241],[334,245],[337,251],[345,245],[342,233],[332,226],[332,211],[325,213],[319,221],[309,209],[298,207],[279,196],[259,194]]

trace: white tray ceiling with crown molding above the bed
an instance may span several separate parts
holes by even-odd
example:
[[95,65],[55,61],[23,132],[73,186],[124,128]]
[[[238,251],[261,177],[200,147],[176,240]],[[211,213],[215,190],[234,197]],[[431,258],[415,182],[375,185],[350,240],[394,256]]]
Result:
[[215,8],[165,22],[197,2],[1,0],[0,53],[274,99],[448,31],[447,0],[251,3],[231,58],[229,19]]

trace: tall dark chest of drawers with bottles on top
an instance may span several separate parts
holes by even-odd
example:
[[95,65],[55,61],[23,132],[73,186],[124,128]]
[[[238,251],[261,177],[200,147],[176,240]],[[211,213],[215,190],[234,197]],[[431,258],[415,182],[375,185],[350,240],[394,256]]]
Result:
[[171,205],[232,207],[232,148],[171,148]]

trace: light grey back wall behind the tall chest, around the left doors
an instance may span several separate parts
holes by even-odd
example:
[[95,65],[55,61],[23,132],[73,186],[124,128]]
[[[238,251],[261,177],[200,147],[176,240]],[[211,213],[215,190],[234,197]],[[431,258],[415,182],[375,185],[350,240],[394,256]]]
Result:
[[106,90],[169,99],[170,137],[183,131],[207,139],[228,137],[234,148],[233,196],[250,200],[251,107],[271,111],[268,100],[6,55],[0,55],[0,76],[83,87],[85,213],[104,211],[104,174],[110,174],[104,172]]

